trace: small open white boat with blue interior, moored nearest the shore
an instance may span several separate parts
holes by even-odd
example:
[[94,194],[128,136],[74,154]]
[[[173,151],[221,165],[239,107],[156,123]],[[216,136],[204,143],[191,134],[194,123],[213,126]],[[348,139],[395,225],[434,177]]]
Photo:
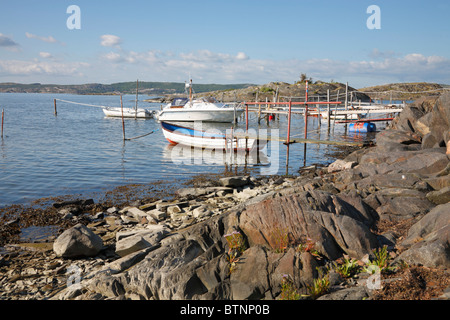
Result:
[[180,144],[194,148],[216,150],[261,150],[267,144],[266,140],[255,138],[236,138],[216,131],[201,131],[161,122],[164,137],[171,144]]

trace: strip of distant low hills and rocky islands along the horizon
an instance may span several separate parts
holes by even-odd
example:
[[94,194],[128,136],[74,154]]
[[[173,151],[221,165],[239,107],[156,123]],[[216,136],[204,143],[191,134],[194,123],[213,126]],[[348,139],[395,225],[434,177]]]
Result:
[[[263,85],[250,83],[240,84],[197,84],[194,83],[194,92],[196,96],[213,96],[219,101],[273,101],[273,99],[283,99],[286,97],[299,97],[303,99],[305,94],[305,82],[308,78],[304,75],[300,81],[293,84],[286,82],[270,82]],[[336,99],[339,94],[345,94],[346,85],[343,83],[331,81],[312,81],[309,78],[309,96],[325,96],[330,93],[330,100]],[[354,101],[369,101],[370,99],[390,98],[399,100],[413,100],[419,96],[438,95],[444,89],[450,89],[449,85],[414,82],[414,83],[391,83],[378,86],[355,89],[348,87],[348,92],[353,92]],[[59,85],[59,84],[41,84],[41,83],[0,83],[0,92],[9,93],[67,93],[80,95],[110,95],[110,94],[135,94],[136,81],[118,82],[112,84],[88,83],[78,85]],[[146,82],[139,81],[139,94],[158,97],[148,99],[158,102],[169,101],[173,97],[185,95],[185,83],[181,82]],[[321,98],[322,100],[322,98]]]

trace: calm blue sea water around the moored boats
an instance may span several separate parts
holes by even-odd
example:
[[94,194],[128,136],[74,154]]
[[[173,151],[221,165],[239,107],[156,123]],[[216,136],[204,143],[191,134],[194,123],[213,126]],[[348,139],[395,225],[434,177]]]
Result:
[[[147,184],[159,180],[187,179],[198,173],[220,173],[229,159],[203,152],[191,158],[191,151],[174,149],[164,139],[154,119],[126,119],[127,137],[157,131],[137,140],[123,142],[121,119],[106,118],[101,108],[73,105],[57,101],[54,116],[53,99],[64,99],[94,105],[120,106],[118,96],[78,96],[67,94],[0,93],[0,109],[5,109],[4,137],[0,140],[0,207],[27,203],[32,200],[67,194],[89,195],[120,185]],[[140,99],[145,97],[141,96]],[[134,95],[123,97],[125,107],[134,106]],[[157,110],[160,104],[139,101],[139,107]],[[0,110],[1,111],[1,110]],[[258,128],[256,114],[250,115],[250,128]],[[238,128],[245,127],[241,119]],[[309,130],[317,128],[317,119],[308,122]],[[303,137],[303,118],[293,116],[292,136]],[[377,124],[378,126],[378,124]],[[218,125],[224,130],[230,124]],[[280,116],[260,128],[279,129],[286,137],[287,120]],[[343,126],[337,125],[329,137],[326,125],[310,133],[310,138],[360,140],[364,136],[343,137]],[[276,149],[279,150],[275,161]],[[336,148],[309,145],[306,165],[329,163]],[[290,147],[289,173],[303,166],[303,145]],[[273,156],[272,156],[273,154]],[[286,172],[286,147],[277,142],[269,144],[260,157],[247,159],[249,166],[271,167],[271,173]],[[243,159],[238,167],[244,166]],[[277,168],[279,167],[279,168]],[[278,170],[275,170],[278,169]]]

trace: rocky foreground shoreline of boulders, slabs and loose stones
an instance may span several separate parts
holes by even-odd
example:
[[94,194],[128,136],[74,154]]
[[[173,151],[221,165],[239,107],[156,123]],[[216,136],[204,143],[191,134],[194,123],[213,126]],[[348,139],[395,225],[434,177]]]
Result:
[[298,177],[55,203],[64,232],[5,245],[0,299],[449,299],[449,157],[443,94],[409,105],[375,147]]

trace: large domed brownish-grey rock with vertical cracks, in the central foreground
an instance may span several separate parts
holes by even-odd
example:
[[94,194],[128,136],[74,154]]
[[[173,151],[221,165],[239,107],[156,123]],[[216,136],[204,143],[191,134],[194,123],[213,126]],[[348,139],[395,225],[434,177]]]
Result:
[[310,238],[330,259],[361,258],[378,246],[366,215],[330,193],[306,191],[247,206],[239,226],[250,245],[276,249],[283,236],[293,243]]

